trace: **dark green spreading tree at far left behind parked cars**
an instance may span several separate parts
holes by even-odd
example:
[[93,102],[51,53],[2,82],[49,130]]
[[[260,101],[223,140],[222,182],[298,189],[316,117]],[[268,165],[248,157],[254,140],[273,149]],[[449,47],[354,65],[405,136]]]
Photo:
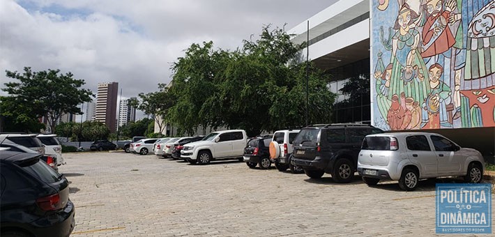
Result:
[[82,114],[78,105],[91,101],[93,93],[81,89],[85,84],[83,79],[74,79],[70,72],[59,72],[58,69],[34,72],[29,67],[25,67],[22,74],[6,70],[6,77],[17,79],[17,82],[7,82],[2,91],[6,91],[17,105],[24,105],[17,108],[17,112],[7,113],[29,112],[36,118],[45,116],[54,133],[56,121],[62,114]]

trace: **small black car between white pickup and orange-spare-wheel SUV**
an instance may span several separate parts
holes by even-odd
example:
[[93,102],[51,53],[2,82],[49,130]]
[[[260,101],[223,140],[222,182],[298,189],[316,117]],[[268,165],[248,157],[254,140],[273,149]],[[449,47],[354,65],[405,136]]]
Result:
[[271,137],[253,137],[244,148],[243,160],[250,168],[259,165],[261,169],[268,169],[271,166],[270,143]]

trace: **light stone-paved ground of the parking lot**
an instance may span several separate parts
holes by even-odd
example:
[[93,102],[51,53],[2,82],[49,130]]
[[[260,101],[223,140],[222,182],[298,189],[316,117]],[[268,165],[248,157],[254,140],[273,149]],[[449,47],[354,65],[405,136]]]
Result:
[[[66,153],[72,236],[433,236],[434,182],[403,192],[320,181],[243,162]],[[450,235],[451,236],[451,235]]]

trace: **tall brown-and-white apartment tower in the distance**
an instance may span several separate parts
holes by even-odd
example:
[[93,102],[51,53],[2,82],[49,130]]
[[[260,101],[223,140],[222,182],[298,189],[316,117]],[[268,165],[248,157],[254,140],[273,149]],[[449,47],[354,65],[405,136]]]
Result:
[[115,131],[118,91],[119,82],[98,83],[95,121],[105,123],[110,132]]

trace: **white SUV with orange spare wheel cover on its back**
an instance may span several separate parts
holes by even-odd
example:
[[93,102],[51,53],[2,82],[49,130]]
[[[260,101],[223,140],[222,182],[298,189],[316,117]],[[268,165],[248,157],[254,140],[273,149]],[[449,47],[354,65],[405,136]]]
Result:
[[292,142],[299,133],[300,130],[279,130],[273,133],[273,141],[271,146],[270,158],[275,167],[279,171],[285,171],[287,168],[291,170],[293,174],[302,173],[303,169],[294,165],[292,162],[292,151],[294,150]]

